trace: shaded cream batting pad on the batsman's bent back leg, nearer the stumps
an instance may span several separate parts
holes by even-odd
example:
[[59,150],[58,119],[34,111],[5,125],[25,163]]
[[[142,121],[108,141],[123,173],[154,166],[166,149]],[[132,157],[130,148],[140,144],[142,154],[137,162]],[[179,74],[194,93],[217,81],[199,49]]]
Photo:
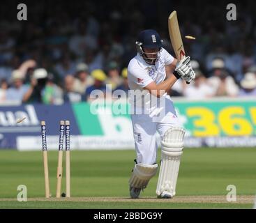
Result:
[[133,174],[130,176],[130,187],[144,189],[148,185],[149,180],[156,175],[158,164],[135,164]]

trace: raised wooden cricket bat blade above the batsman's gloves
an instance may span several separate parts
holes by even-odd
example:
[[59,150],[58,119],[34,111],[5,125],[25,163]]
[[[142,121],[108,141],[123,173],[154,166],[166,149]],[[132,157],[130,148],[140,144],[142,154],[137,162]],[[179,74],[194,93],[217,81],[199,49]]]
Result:
[[179,31],[179,23],[176,11],[173,11],[168,18],[168,29],[176,59],[181,61],[181,59],[183,59],[186,54],[181,39],[181,32]]

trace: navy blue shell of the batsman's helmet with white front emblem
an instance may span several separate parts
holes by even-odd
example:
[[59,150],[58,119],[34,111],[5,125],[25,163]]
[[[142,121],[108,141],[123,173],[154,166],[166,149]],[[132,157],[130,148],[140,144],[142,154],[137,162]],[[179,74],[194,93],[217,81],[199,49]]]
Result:
[[158,32],[153,29],[145,29],[140,32],[137,42],[142,43],[142,47],[149,49],[163,47],[163,40],[161,40]]

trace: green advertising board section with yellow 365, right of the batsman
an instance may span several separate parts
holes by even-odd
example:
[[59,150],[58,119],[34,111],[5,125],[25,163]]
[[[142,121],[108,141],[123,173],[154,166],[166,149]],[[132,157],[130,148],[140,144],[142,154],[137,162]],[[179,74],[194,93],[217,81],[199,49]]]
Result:
[[183,125],[193,137],[256,135],[256,100],[175,102]]

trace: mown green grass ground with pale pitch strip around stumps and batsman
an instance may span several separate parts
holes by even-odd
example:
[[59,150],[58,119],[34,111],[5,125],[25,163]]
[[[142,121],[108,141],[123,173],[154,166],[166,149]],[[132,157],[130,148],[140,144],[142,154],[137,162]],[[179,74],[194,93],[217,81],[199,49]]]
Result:
[[[40,199],[45,195],[42,153],[0,151],[0,208],[253,208],[255,148],[185,149],[176,197],[167,200],[155,199],[157,176],[142,192],[141,199],[129,199],[128,179],[135,151],[71,151],[70,154],[72,199],[45,201]],[[57,156],[57,151],[48,153],[53,197],[56,194]],[[158,163],[159,160],[160,153]],[[18,185],[27,186],[29,201],[16,201]],[[225,201],[227,185],[236,186],[238,197],[250,195],[250,199]],[[65,177],[62,192],[65,192]],[[200,201],[201,196],[206,201]]]

